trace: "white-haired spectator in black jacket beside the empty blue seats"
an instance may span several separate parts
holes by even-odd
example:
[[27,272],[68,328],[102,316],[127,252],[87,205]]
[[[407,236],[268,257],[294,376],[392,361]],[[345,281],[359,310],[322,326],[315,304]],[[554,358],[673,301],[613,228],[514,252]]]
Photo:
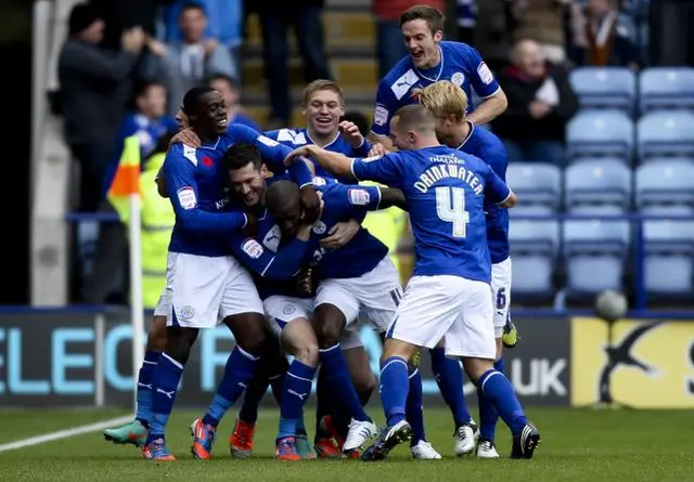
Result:
[[578,110],[566,71],[548,63],[542,47],[534,40],[517,42],[511,62],[498,77],[509,108],[491,121],[506,146],[509,161],[566,166],[564,131]]

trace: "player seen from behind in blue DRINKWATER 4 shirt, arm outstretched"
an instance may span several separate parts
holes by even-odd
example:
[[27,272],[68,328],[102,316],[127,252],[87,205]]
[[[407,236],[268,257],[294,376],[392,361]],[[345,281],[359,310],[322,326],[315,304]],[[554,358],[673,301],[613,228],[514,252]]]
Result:
[[[512,458],[531,458],[540,442],[511,382],[493,368],[496,343],[491,262],[484,200],[513,207],[515,195],[481,159],[439,144],[436,118],[421,105],[400,108],[390,121],[398,153],[349,159],[326,151],[310,154],[336,175],[351,175],[401,188],[410,212],[415,265],[381,360],[381,399],[387,427],[362,455],[378,460],[409,440],[406,420],[408,363],[420,347],[444,338],[446,355],[459,357],[471,380],[509,426]],[[306,148],[294,151],[291,164]]]

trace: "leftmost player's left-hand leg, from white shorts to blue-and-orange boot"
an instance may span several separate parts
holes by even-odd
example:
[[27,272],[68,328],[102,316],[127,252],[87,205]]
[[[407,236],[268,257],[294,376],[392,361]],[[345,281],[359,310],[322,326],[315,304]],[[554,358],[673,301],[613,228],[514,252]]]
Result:
[[200,328],[215,328],[230,274],[226,257],[208,258],[169,252],[167,290],[171,310],[167,316],[167,343],[153,374],[152,418],[143,456],[171,460],[165,428],[183,374],[183,367]]

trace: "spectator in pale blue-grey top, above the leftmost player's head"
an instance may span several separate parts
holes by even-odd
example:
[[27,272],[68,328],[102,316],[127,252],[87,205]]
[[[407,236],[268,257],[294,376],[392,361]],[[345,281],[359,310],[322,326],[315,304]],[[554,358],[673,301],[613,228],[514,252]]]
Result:
[[214,74],[234,77],[236,70],[229,49],[216,38],[206,38],[207,16],[198,3],[185,3],[179,17],[180,41],[163,43],[147,39],[150,55],[144,75],[166,83],[169,93],[168,112],[176,115],[185,92],[204,83]]

